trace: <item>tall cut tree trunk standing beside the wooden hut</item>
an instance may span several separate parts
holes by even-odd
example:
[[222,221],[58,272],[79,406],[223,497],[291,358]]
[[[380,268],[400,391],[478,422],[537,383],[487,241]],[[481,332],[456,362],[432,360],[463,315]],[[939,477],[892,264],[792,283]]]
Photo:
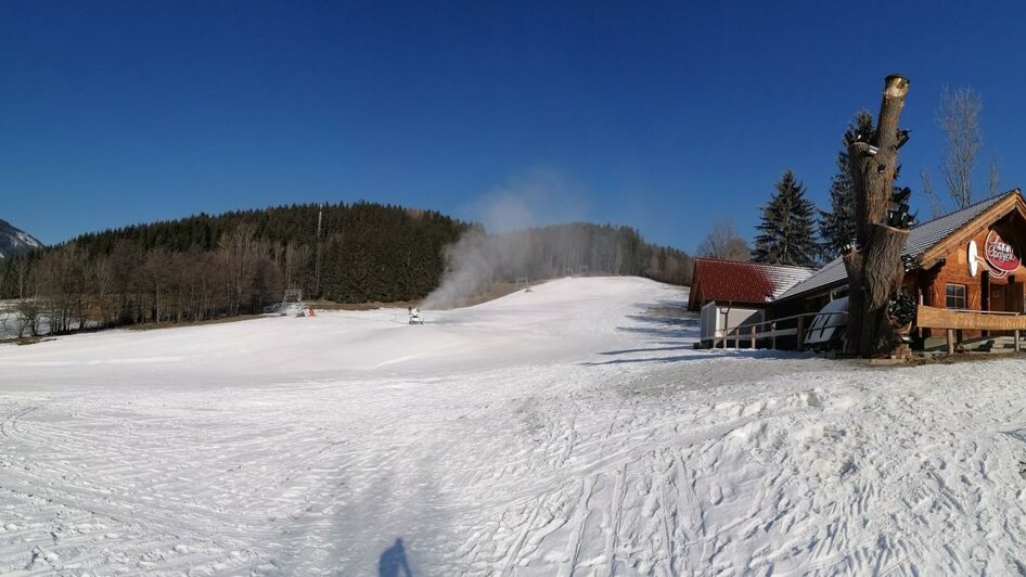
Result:
[[855,251],[844,256],[848,272],[848,332],[845,350],[863,357],[890,356],[901,348],[899,328],[887,317],[890,296],[901,286],[901,253],[909,231],[888,227],[894,177],[898,166],[898,118],[909,81],[885,80],[878,124],[873,138],[848,142],[855,185]]

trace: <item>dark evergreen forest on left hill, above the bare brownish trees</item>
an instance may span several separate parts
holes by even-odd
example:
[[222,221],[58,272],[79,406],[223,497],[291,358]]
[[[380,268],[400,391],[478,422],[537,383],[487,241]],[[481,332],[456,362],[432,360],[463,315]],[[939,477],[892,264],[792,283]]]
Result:
[[239,261],[253,270],[242,274],[257,280],[248,293],[260,303],[280,300],[285,287],[343,303],[392,302],[434,288],[444,269],[443,248],[471,227],[433,210],[305,204],[137,225],[84,234],[69,244],[89,258],[111,255],[117,261],[129,253],[137,259],[145,255],[142,260],[206,254],[222,265]]

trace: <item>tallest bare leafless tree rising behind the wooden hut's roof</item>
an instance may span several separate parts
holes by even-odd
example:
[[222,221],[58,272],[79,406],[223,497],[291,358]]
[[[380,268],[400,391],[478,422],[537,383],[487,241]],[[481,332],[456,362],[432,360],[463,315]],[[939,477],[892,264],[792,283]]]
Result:
[[982,107],[979,94],[970,87],[952,91],[945,86],[940,92],[937,126],[947,140],[940,174],[958,208],[973,202],[972,172],[984,141],[979,132]]

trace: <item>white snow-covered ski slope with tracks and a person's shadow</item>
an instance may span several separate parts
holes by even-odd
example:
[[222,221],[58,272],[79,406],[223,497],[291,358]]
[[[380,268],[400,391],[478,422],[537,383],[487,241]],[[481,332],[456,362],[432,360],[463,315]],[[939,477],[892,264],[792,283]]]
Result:
[[1023,360],[697,351],[685,296],[0,346],[0,573],[1026,572]]

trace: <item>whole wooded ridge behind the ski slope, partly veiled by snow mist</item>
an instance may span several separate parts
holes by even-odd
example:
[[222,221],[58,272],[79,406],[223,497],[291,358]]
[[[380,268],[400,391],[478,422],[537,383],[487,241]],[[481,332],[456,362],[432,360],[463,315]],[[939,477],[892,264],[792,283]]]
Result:
[[[484,232],[437,211],[372,203],[201,214],[0,262],[0,297],[31,299],[56,332],[259,312],[285,288],[339,303],[416,300],[457,266],[447,247]],[[626,227],[559,225],[488,239],[522,251],[516,260],[496,254],[496,281],[567,272],[690,281],[687,254]]]

